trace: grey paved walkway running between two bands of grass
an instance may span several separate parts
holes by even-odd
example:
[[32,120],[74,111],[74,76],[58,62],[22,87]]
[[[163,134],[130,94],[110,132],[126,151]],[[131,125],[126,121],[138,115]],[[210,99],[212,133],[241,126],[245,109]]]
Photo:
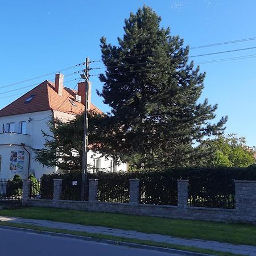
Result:
[[[164,242],[164,243],[170,243],[172,245],[193,246],[201,249],[211,249],[211,250],[224,251],[224,252],[229,252],[234,254],[256,256],[256,246],[249,246],[249,245],[233,245],[231,243],[222,243],[222,242],[216,242],[216,241],[176,238],[176,237],[164,236],[160,234],[146,234],[146,233],[137,232],[134,230],[112,229],[112,228],[105,228],[102,226],[84,226],[84,225],[69,224],[69,223],[56,222],[56,221],[32,220],[28,218],[19,218],[19,217],[1,217],[0,216],[0,221],[9,221],[14,223],[29,224],[33,226],[44,226],[47,228],[66,229],[66,230],[80,231],[80,232],[87,232],[87,233],[94,233],[94,234],[105,234],[105,235],[115,236],[115,237],[135,238],[138,240]],[[232,234],[230,234],[230,236],[232,236]]]

